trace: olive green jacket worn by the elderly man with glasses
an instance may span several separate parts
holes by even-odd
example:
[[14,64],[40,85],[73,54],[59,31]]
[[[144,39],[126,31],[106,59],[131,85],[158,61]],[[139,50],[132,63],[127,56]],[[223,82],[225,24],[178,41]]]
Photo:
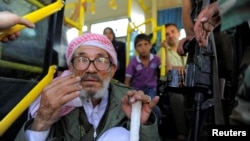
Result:
[[[110,97],[104,117],[97,128],[98,139],[105,131],[112,127],[123,126],[129,129],[130,122],[121,109],[121,99],[130,90],[129,87],[120,83],[111,83]],[[48,141],[80,141],[88,129],[85,129],[82,119],[87,119],[82,107],[75,108],[66,116],[62,117],[50,129]],[[19,131],[16,141],[25,141],[25,129],[31,125],[33,120],[25,122]],[[149,124],[140,126],[141,141],[159,141],[158,126],[155,114],[151,114]]]

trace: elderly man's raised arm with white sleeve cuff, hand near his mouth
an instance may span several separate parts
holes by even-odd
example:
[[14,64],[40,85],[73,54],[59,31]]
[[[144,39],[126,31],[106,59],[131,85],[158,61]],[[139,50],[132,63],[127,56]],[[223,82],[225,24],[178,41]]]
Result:
[[32,113],[35,112],[36,114],[31,115],[32,119],[24,123],[16,137],[16,141],[45,141],[48,138],[52,125],[62,115],[63,106],[79,97],[82,89],[79,81],[80,77],[66,75],[54,79],[46,86],[41,92],[39,99],[30,107],[29,112],[33,111]]

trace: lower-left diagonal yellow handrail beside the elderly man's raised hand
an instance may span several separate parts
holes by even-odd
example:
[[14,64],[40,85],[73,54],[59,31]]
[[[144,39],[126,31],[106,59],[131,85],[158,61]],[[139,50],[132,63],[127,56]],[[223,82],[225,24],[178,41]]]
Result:
[[0,137],[53,80],[55,72],[56,66],[50,66],[48,74],[0,121]]

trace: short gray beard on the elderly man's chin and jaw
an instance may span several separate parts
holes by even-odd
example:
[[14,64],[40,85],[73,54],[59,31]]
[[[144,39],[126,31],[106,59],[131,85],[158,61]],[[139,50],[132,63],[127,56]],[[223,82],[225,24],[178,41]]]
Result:
[[103,81],[103,87],[98,90],[96,93],[86,92],[85,90],[81,90],[80,98],[83,99],[101,99],[106,93],[108,93],[110,78]]

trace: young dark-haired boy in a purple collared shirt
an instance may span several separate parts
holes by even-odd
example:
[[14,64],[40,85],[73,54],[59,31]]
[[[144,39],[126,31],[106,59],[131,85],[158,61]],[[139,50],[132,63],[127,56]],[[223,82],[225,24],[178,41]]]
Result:
[[151,98],[156,96],[157,70],[160,58],[150,53],[152,47],[146,34],[139,34],[134,42],[138,56],[133,57],[126,69],[125,85],[142,90]]

